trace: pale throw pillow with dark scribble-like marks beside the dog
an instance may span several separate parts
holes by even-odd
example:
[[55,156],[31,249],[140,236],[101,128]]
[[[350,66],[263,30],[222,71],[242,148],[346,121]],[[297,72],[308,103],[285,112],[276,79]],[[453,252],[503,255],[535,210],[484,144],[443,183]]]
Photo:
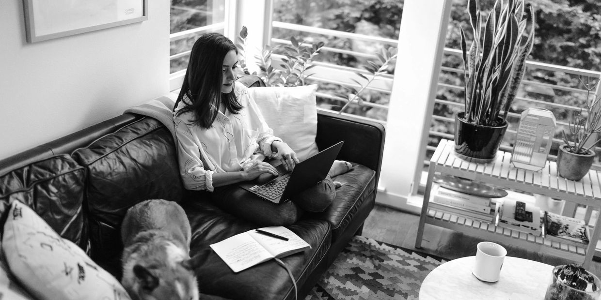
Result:
[[11,203],[2,248],[10,271],[37,299],[130,299],[115,277],[21,202]]

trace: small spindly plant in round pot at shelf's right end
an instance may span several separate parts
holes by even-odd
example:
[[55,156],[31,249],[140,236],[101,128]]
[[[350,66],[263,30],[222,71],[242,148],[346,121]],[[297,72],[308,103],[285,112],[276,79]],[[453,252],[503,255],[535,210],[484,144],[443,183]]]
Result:
[[587,175],[595,158],[594,146],[597,145],[597,133],[601,132],[601,96],[591,91],[596,88],[597,80],[585,83],[581,76],[578,80],[587,89],[585,98],[586,112],[582,109],[572,115],[568,122],[570,134],[562,130],[564,144],[557,152],[557,172],[563,178],[578,181]]

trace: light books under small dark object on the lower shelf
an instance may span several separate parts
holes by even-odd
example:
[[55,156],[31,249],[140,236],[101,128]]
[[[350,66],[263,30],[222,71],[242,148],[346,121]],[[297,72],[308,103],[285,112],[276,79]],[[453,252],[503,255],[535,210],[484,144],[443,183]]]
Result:
[[515,219],[516,200],[505,199],[502,203],[497,204],[496,210],[499,216],[499,221],[496,226],[529,233],[535,236],[540,236],[542,234],[542,218],[540,208],[537,206],[526,203],[526,215],[529,216],[529,220],[526,221],[517,221]]

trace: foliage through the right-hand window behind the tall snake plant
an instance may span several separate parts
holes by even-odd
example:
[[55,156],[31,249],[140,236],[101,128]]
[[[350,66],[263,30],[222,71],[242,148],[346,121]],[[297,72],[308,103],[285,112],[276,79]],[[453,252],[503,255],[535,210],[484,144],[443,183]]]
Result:
[[[481,0],[483,10],[490,10],[495,0]],[[537,19],[536,37],[529,61],[544,62],[585,70],[601,71],[601,2],[596,0],[528,0]],[[466,10],[467,0],[455,0],[451,10],[451,21],[447,31],[445,47],[460,49],[460,27],[469,26],[469,15]],[[471,32],[466,32],[471,35]],[[468,39],[471,39],[468,36]],[[443,100],[436,103],[435,116],[453,118],[454,113],[463,110],[463,91],[451,86],[463,86],[463,70],[461,56],[446,54],[442,60],[442,71],[436,98]],[[542,84],[533,84],[542,83]],[[562,89],[559,87],[566,87]],[[579,91],[578,91],[579,90]],[[561,71],[543,70],[542,68],[526,68],[526,73],[510,108],[508,117],[509,129],[515,130],[519,122],[519,114],[528,107],[538,106],[551,110],[558,121],[555,138],[561,139],[562,130],[573,112],[585,107],[587,92],[580,85],[578,74]],[[526,101],[526,100],[534,101]],[[447,103],[445,101],[450,101]],[[441,101],[439,101],[441,102]],[[457,104],[453,104],[457,103]],[[557,104],[557,105],[552,105]],[[573,108],[566,107],[572,106]],[[430,130],[443,134],[454,134],[454,123],[434,118]],[[438,145],[441,137],[430,136],[429,145]],[[505,134],[505,149],[513,146],[514,134]],[[551,154],[557,154],[555,143]],[[428,153],[428,159],[432,151]]]

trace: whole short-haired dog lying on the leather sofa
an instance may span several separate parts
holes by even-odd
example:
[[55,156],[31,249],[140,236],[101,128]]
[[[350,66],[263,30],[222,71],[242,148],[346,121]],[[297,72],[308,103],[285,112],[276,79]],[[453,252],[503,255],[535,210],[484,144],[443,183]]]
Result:
[[175,202],[146,200],[127,210],[121,224],[121,283],[132,299],[198,299],[191,235],[188,217]]

